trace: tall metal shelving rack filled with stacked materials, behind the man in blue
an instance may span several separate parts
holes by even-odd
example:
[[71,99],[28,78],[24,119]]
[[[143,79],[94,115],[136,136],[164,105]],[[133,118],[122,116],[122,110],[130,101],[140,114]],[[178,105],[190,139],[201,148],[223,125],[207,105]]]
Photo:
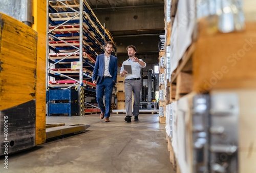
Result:
[[[84,96],[96,93],[91,82],[96,57],[113,38],[84,0],[47,0],[47,16],[46,88],[79,91],[77,115],[84,115]],[[112,54],[116,56],[115,47]]]

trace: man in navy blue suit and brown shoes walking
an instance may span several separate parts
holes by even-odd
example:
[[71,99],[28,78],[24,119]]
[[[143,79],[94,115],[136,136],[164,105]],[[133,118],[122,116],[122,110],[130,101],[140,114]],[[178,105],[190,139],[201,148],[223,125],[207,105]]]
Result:
[[[105,53],[97,56],[92,79],[93,83],[96,84],[98,78],[96,99],[101,110],[100,119],[105,118],[105,122],[110,122],[112,91],[117,77],[117,58],[111,55],[113,46],[114,44],[111,41],[106,42]],[[104,90],[106,107],[103,103]]]

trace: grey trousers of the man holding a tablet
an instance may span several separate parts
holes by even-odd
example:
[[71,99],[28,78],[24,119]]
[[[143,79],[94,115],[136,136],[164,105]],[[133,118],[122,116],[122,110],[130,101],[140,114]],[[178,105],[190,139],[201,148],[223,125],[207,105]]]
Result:
[[[126,116],[138,116],[140,110],[141,80],[124,80]],[[132,95],[133,94],[133,95]],[[134,97],[132,114],[132,96]]]

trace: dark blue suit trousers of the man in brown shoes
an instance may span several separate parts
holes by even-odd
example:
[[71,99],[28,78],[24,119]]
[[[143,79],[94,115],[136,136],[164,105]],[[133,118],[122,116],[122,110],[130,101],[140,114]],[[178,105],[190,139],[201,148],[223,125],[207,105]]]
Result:
[[[104,117],[110,117],[113,86],[114,81],[112,78],[102,79],[101,83],[96,85],[96,99],[101,112],[105,112]],[[106,108],[103,103],[104,90]]]

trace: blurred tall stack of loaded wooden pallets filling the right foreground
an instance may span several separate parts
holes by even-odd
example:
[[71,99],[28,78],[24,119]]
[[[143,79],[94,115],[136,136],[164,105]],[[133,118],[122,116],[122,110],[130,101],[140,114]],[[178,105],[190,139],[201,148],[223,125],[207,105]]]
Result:
[[165,1],[166,133],[177,172],[256,171],[254,4]]

